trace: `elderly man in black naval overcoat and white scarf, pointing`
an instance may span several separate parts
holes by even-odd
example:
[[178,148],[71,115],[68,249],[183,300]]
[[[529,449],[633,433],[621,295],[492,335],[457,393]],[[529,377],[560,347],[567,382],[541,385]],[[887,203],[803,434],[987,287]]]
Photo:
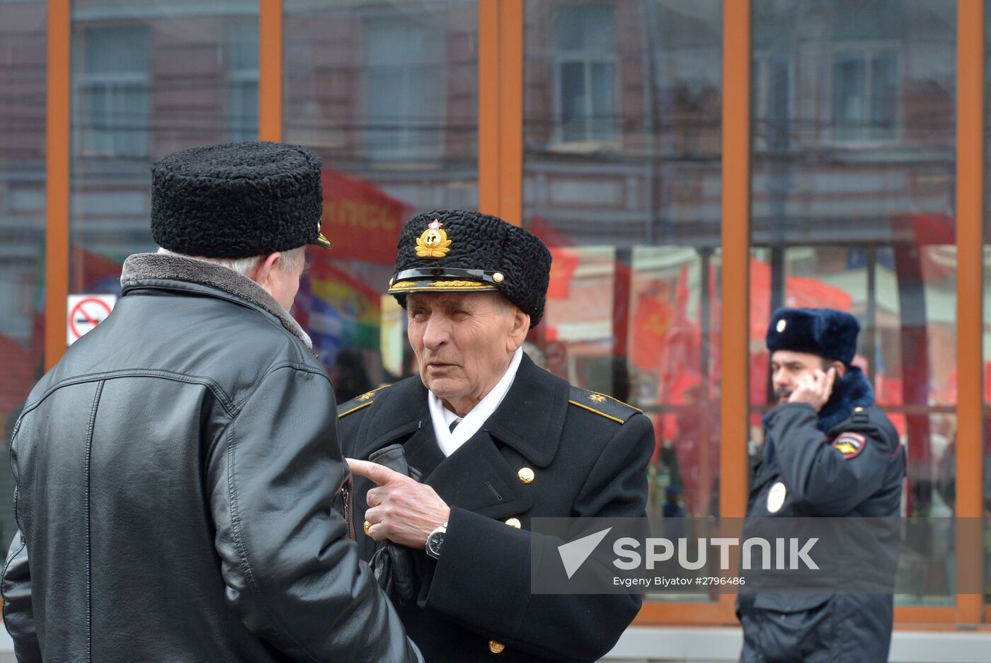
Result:
[[345,454],[377,461],[351,462],[362,557],[428,662],[598,660],[640,607],[530,592],[531,518],[644,515],[654,451],[639,410],[523,353],[550,262],[495,216],[411,219],[388,292],[419,375],[338,409]]

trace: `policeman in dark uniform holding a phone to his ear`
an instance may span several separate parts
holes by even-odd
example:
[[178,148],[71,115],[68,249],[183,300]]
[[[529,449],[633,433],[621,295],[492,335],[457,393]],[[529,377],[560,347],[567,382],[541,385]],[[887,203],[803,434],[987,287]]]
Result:
[[[860,325],[827,308],[783,308],[767,330],[778,404],[763,419],[747,519],[899,515],[905,454],[852,366]],[[888,595],[741,595],[743,663],[888,660]]]

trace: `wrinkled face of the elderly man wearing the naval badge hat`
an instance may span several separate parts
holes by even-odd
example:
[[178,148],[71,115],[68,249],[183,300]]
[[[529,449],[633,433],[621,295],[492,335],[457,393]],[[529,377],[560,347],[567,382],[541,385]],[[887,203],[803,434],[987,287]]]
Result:
[[424,386],[452,403],[469,402],[468,409],[495,387],[529,327],[497,292],[411,292],[406,312]]

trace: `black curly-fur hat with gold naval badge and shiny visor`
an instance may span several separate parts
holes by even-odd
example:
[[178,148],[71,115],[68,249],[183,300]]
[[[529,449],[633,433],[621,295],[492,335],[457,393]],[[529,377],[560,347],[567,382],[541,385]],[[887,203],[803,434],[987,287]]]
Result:
[[388,293],[405,307],[409,292],[497,290],[540,322],[551,276],[544,243],[497,216],[438,210],[411,218],[399,233]]

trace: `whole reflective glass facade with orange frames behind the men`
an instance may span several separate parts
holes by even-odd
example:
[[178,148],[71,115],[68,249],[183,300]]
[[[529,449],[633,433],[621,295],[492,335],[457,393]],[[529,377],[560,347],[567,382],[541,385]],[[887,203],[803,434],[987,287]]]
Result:
[[[746,1],[750,171],[736,181],[749,183],[748,263],[744,243],[724,245],[722,235],[734,227],[723,228],[722,192],[730,199],[736,176],[723,170],[723,128],[729,132],[733,105],[745,111],[723,98],[724,90],[731,97],[723,81],[726,34],[743,29],[723,15],[724,0],[526,0],[519,25],[495,30],[499,49],[521,45],[523,55],[522,71],[508,76],[522,92],[521,215],[506,218],[554,255],[546,315],[526,349],[572,384],[651,417],[657,450],[649,510],[677,528],[681,516],[716,515],[720,502],[740,501],[729,487],[747,468],[727,462],[726,450],[745,444],[751,458],[761,450],[771,311],[847,310],[862,326],[855,364],[906,445],[903,514],[936,518],[957,513],[957,463],[981,460],[957,458],[959,421],[976,425],[978,417],[965,416],[957,398],[957,353],[976,351],[962,341],[958,347],[956,311],[958,297],[983,302],[987,517],[987,239],[983,292],[957,278],[957,152],[968,147],[957,145],[955,122],[963,5]],[[186,147],[257,139],[265,101],[257,0],[73,0],[64,81],[47,74],[48,4],[0,0],[4,444],[44,362],[55,359],[45,357],[46,334],[65,335],[64,328],[46,332],[58,316],[46,311],[45,240],[48,229],[61,227],[46,215],[62,195],[46,188],[46,160],[69,157],[68,292],[119,293],[123,260],[156,250],[148,230],[151,163]],[[504,181],[480,184],[480,161],[494,157],[480,151],[480,136],[495,128],[480,126],[479,94],[506,84],[510,58],[482,51],[480,37],[494,28],[480,25],[480,9],[489,14],[479,0],[280,4],[280,138],[322,157],[324,229],[335,247],[309,252],[311,269],[292,312],[343,401],[414,370],[404,312],[382,295],[401,224],[418,212],[477,208],[505,193]],[[480,73],[486,56],[495,68]],[[494,71],[498,80],[489,77]],[[984,75],[986,109],[991,55]],[[71,92],[64,146],[46,144],[54,84]],[[493,117],[500,132],[512,126]],[[991,112],[985,118],[988,181]],[[989,199],[985,186],[985,238]],[[730,277],[742,278],[730,267],[731,249],[748,266],[748,372],[724,376],[722,329],[735,321],[722,315],[723,256]],[[730,393],[748,404],[738,418],[721,409]],[[746,439],[722,440],[721,426],[744,419]],[[0,472],[0,497],[9,483]],[[10,500],[0,499],[0,545],[12,533]],[[947,531],[903,555],[902,573],[919,583],[899,597],[902,607],[959,608],[951,542]],[[944,564],[925,562],[934,557]],[[991,573],[985,578],[991,599]],[[712,608],[707,623],[732,622],[731,608],[708,599],[692,614]],[[654,604],[645,612],[665,615],[655,621],[694,618]],[[899,609],[902,623],[906,614],[916,622],[959,620],[952,608]]]

